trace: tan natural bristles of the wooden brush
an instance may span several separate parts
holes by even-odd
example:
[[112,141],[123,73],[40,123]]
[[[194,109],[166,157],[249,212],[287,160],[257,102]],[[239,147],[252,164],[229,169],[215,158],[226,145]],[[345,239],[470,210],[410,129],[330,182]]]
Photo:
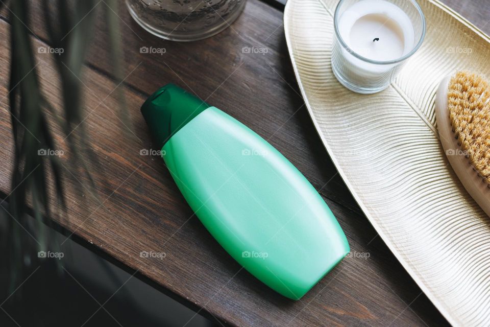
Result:
[[448,87],[449,121],[458,145],[490,184],[490,85],[477,74],[458,72]]

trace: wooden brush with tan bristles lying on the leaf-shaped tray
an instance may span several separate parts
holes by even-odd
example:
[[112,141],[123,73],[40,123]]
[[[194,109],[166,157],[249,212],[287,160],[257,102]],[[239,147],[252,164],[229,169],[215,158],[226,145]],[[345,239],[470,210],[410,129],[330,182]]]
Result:
[[490,216],[490,85],[467,72],[446,77],[437,89],[435,115],[452,168]]

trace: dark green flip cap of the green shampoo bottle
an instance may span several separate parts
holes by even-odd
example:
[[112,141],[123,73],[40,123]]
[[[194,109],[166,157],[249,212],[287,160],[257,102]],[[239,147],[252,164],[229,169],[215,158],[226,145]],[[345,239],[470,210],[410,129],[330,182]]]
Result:
[[167,84],[146,99],[141,113],[158,147],[210,105],[174,84]]

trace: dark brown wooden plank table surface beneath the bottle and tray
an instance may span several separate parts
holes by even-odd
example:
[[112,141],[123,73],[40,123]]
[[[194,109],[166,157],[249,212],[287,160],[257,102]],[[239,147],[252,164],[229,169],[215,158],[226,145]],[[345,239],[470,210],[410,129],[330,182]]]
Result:
[[[117,109],[108,36],[100,19],[84,74],[85,124],[93,152],[100,160],[100,167],[91,167],[95,189],[83,186],[82,173],[72,176],[66,172],[68,217],[55,215],[52,219],[74,237],[86,240],[89,247],[97,247],[125,265],[135,277],[153,283],[219,323],[447,325],[377,236],[337,175],[299,95],[284,39],[283,6],[271,1],[249,0],[231,28],[190,43],[152,36],[121,5],[121,56],[126,63],[126,78],[119,87],[126,93],[132,126],[122,122]],[[487,0],[444,2],[490,34]],[[34,5],[39,6],[39,2]],[[38,12],[41,10],[33,11],[31,21],[35,48],[46,45],[47,39]],[[8,31],[8,17],[3,12],[2,95],[8,87]],[[165,48],[166,52],[141,54],[141,46]],[[268,51],[263,55],[242,53],[244,46]],[[60,85],[53,62],[47,54],[37,57],[48,100],[60,107]],[[140,155],[141,149],[152,145],[139,108],[154,90],[169,82],[207,99],[282,152],[330,206],[347,235],[351,251],[369,258],[346,258],[299,301],[278,295],[242,270],[192,214],[163,161]],[[6,98],[0,100],[0,106],[0,139],[5,145],[0,148],[0,191],[8,194],[12,136]],[[54,130],[61,141],[62,133],[56,126]],[[163,251],[166,257],[140,258],[140,251]]]

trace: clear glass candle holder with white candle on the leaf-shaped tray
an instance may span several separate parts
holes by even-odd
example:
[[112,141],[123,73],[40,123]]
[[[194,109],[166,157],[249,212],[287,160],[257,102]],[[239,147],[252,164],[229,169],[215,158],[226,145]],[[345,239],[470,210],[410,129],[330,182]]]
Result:
[[334,14],[332,71],[348,89],[387,88],[422,45],[425,17],[414,0],[340,0]]

